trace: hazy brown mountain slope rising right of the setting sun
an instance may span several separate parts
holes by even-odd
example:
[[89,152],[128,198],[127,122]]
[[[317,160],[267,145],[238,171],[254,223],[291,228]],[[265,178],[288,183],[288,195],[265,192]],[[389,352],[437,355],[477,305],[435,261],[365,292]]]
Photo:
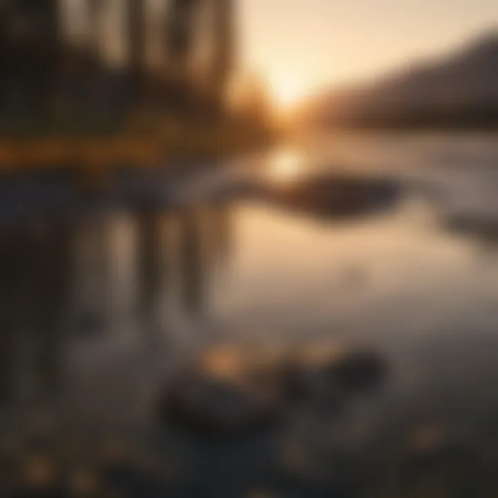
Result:
[[353,127],[498,127],[498,28],[453,55],[308,102],[302,120]]

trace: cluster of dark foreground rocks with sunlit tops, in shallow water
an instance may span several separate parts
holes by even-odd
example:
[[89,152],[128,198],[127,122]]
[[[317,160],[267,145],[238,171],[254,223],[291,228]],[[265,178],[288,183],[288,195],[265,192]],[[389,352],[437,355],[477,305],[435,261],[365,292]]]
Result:
[[338,409],[385,376],[374,352],[317,343],[298,353],[215,348],[181,371],[160,397],[161,421],[202,434],[248,434],[274,427],[299,403]]

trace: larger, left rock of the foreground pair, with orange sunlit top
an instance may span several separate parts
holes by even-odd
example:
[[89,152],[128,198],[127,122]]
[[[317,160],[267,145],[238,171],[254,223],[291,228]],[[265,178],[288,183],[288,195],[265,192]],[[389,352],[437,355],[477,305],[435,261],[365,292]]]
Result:
[[[270,381],[268,381],[270,380]],[[244,436],[282,415],[282,389],[237,349],[210,351],[178,376],[160,400],[160,417],[196,434]]]

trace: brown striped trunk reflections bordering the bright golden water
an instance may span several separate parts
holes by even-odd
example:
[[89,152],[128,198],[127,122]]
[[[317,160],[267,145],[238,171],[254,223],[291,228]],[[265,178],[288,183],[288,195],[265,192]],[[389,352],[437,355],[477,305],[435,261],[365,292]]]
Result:
[[[214,271],[230,255],[228,206],[215,203],[183,210],[150,208],[138,214],[136,223],[136,286],[142,323],[157,328],[160,313],[168,310],[183,309],[197,315],[214,284]],[[167,320],[167,315],[163,318]]]

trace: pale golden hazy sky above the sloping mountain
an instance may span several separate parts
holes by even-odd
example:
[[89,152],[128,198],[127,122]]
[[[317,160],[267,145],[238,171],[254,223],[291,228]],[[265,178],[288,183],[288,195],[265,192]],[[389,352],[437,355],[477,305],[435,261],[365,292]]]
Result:
[[239,1],[242,66],[266,76],[282,101],[498,27],[498,0]]

